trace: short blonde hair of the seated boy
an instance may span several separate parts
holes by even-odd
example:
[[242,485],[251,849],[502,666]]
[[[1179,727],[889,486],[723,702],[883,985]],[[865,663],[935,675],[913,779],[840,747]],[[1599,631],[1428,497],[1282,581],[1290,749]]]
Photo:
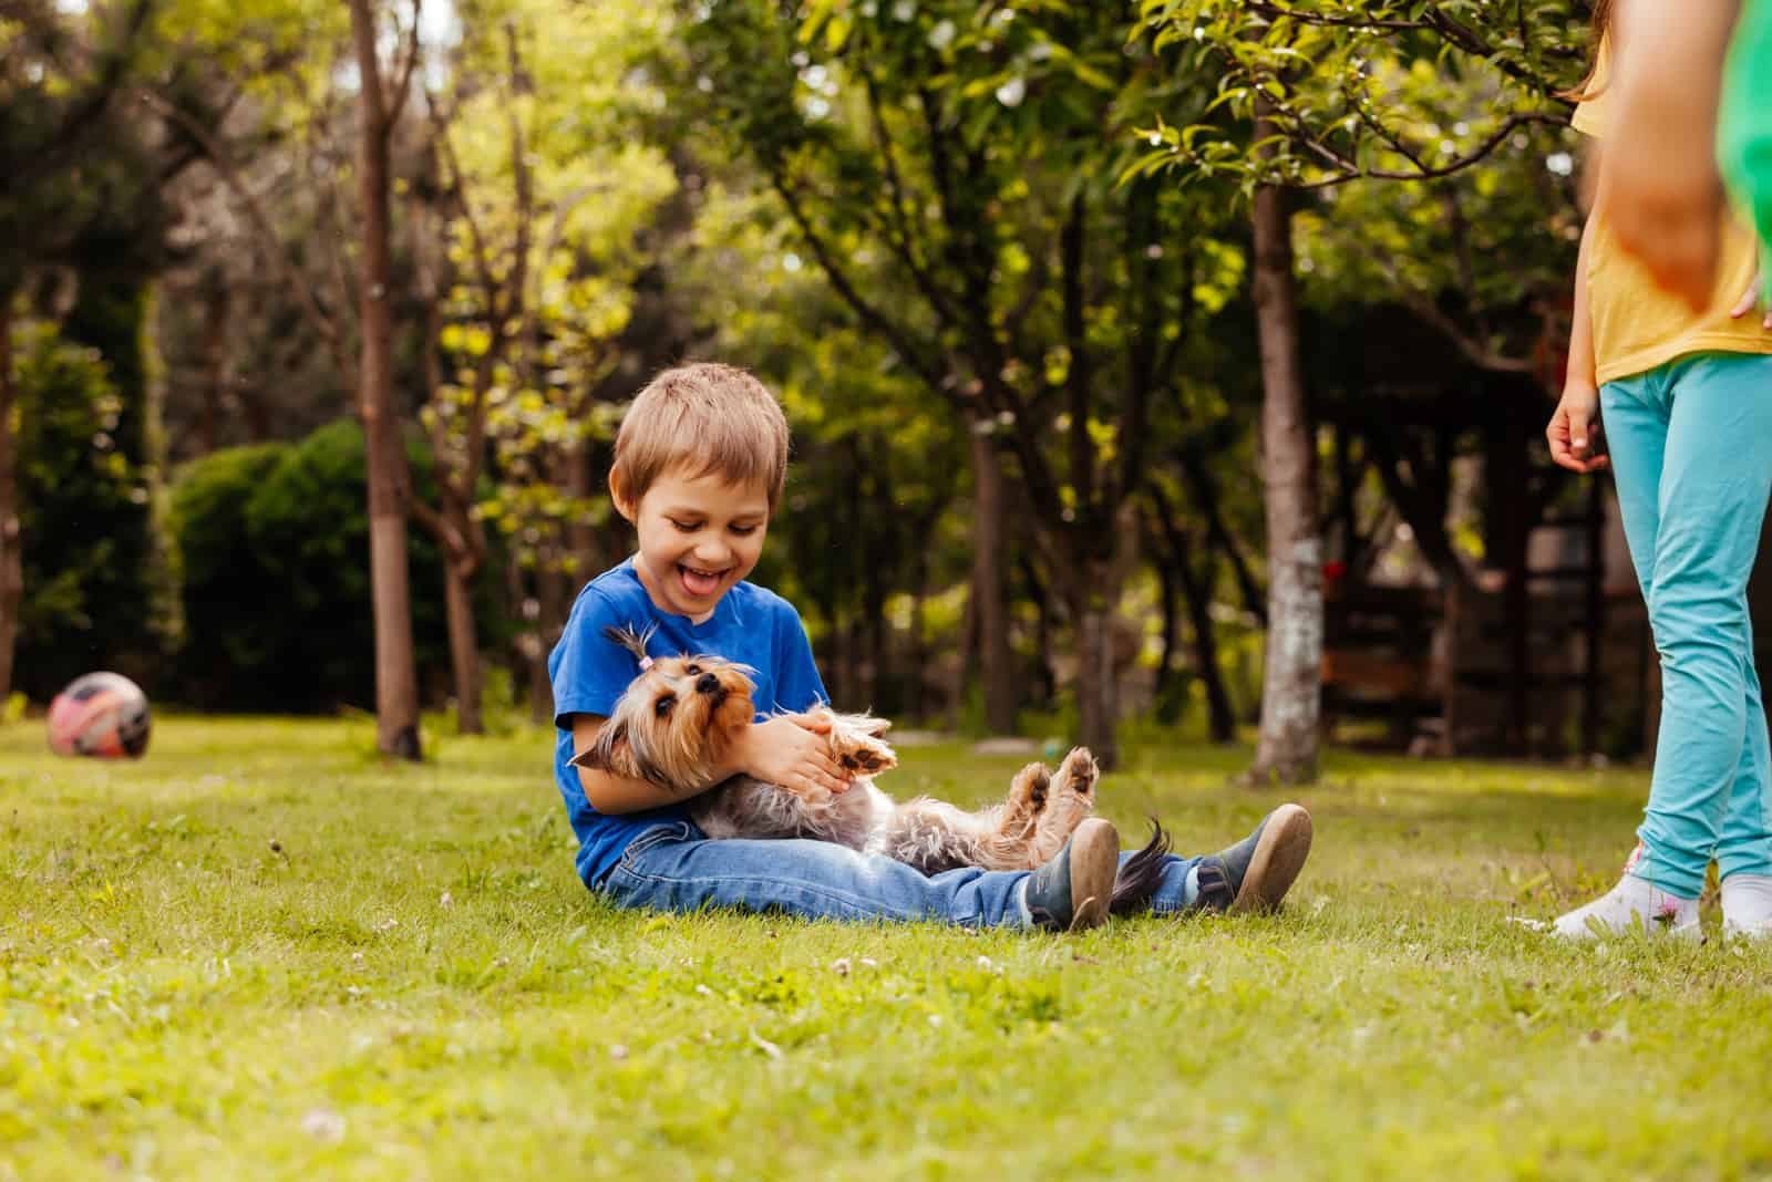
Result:
[[734,485],[762,481],[773,515],[787,480],[781,405],[737,366],[702,361],[659,373],[622,418],[610,487],[640,504],[673,467]]

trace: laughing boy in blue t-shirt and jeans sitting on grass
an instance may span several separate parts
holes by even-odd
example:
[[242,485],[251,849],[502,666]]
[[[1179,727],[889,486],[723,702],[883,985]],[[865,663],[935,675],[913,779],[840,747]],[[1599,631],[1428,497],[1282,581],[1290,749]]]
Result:
[[[638,552],[579,593],[548,658],[555,782],[579,839],[585,885],[620,906],[695,911],[780,908],[851,920],[941,920],[1069,931],[1106,918],[1120,839],[1084,821],[1038,871],[960,869],[925,878],[890,858],[815,840],[707,840],[679,798],[645,780],[576,768],[627,683],[633,656],[604,626],[656,626],[659,653],[714,653],[755,669],[757,722],[730,768],[785,787],[843,791],[845,773],[803,713],[828,702],[799,614],[744,580],[757,566],[787,474],[787,419],[762,382],[689,365],[647,386],[615,439],[610,495]],[[1152,908],[1274,906],[1310,851],[1310,816],[1271,812],[1209,858],[1170,858]]]

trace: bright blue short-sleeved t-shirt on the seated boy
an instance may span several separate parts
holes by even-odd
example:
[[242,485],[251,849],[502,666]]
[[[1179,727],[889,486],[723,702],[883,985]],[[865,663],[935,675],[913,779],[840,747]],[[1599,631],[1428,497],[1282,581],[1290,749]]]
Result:
[[578,874],[587,885],[602,881],[627,844],[661,821],[688,817],[684,805],[666,805],[645,812],[604,816],[590,807],[572,759],[571,715],[608,718],[627,685],[640,676],[633,653],[602,635],[606,625],[631,625],[645,632],[657,625],[647,649],[654,656],[707,653],[755,669],[753,702],[757,718],[783,711],[801,711],[828,702],[812,644],[799,612],[774,591],[741,582],[714,605],[703,623],[659,610],[627,559],[608,570],[578,593],[565,632],[548,655],[548,676],[555,690],[555,784],[565,800],[565,814],[578,833]]

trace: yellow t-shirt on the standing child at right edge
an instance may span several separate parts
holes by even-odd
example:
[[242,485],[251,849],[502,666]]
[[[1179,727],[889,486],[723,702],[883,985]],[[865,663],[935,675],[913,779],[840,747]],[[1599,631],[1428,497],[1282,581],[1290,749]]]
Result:
[[[1598,94],[1575,108],[1574,127],[1605,140],[1611,90],[1607,48],[1600,46],[1593,83]],[[1754,232],[1733,212],[1724,218],[1722,251],[1710,311],[1694,315],[1678,296],[1655,287],[1650,272],[1613,237],[1605,209],[1589,216],[1588,311],[1593,319],[1593,363],[1600,382],[1646,373],[1689,352],[1772,354],[1772,333],[1760,315],[1731,319],[1758,267]]]

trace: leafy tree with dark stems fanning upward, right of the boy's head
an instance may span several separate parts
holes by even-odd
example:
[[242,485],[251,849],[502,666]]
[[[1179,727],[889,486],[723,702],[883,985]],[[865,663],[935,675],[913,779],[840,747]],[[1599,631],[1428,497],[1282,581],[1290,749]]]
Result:
[[[1146,62],[1115,11],[721,0],[686,34],[727,127],[831,287],[1014,465],[1115,759],[1120,508],[1189,343],[1189,196],[1116,186]],[[1173,248],[1171,248],[1173,244]],[[890,285],[863,288],[881,260]]]

